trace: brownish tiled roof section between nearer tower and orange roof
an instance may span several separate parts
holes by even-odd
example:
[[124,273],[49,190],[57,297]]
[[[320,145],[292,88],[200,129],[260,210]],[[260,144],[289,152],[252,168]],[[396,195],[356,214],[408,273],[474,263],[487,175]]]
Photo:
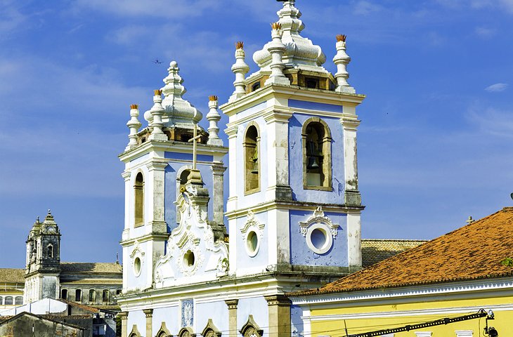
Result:
[[362,239],[362,267],[370,267],[427,240]]

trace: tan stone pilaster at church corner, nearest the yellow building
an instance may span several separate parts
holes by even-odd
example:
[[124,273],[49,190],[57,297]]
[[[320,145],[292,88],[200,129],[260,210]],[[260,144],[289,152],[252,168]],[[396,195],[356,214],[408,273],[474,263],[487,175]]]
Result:
[[264,296],[269,311],[269,336],[290,337],[290,300],[285,295]]

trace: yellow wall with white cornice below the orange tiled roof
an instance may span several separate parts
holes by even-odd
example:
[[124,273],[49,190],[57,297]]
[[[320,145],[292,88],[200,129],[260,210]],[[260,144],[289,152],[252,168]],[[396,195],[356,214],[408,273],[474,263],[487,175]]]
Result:
[[[482,286],[479,285],[479,288]],[[455,286],[454,289],[457,289]],[[311,313],[307,306],[293,310],[292,322],[295,329],[304,336],[344,336],[344,321],[349,334],[391,329],[407,324],[434,321],[445,317],[458,317],[478,312],[483,308],[493,310],[495,319],[488,322],[497,329],[499,336],[509,336],[513,322],[513,289],[488,291],[447,291],[438,295],[394,296],[380,300],[353,300],[345,303],[331,303],[330,308],[312,305]],[[382,291],[383,293],[384,291]],[[361,298],[363,294],[356,297]],[[379,297],[376,292],[374,296]],[[301,326],[299,317],[302,319]],[[341,324],[342,323],[342,324]],[[472,319],[453,324],[431,326],[426,329],[395,333],[395,337],[412,336],[481,336],[486,325],[485,319]],[[302,329],[302,330],[301,330]],[[431,334],[429,334],[431,333]],[[472,333],[472,334],[469,334]],[[387,335],[388,336],[388,335]]]

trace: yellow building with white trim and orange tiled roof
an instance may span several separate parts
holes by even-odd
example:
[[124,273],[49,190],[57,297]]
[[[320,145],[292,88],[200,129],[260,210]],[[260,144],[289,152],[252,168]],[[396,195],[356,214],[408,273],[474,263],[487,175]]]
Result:
[[[290,293],[292,336],[479,337],[486,317],[404,332],[401,326],[493,310],[513,336],[513,208],[313,291]],[[363,334],[380,331],[374,334]]]

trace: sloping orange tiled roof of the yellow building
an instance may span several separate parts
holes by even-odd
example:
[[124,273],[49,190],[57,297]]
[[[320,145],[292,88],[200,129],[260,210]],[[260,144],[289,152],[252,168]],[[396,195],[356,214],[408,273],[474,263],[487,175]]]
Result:
[[316,295],[513,276],[513,207],[323,286]]

